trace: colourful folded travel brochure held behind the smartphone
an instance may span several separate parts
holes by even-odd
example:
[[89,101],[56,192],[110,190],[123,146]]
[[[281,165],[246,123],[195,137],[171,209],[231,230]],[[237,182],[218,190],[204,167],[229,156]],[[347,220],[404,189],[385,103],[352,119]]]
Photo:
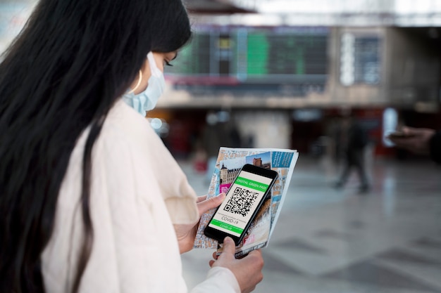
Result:
[[[262,247],[267,247],[280,210],[287,195],[292,173],[299,153],[297,150],[271,148],[221,148],[216,168],[211,178],[207,197],[226,193],[244,164],[254,164],[278,172],[278,179],[271,189],[271,197],[263,202],[256,218],[247,230],[244,240],[236,247],[236,258],[240,258]],[[222,245],[204,235],[204,229],[216,209],[211,209],[201,216],[194,248],[217,249],[222,252]]]

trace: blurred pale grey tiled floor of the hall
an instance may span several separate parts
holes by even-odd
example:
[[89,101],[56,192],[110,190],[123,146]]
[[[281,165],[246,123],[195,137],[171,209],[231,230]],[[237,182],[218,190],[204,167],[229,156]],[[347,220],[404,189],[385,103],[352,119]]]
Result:
[[[353,174],[331,187],[337,167],[300,155],[254,292],[441,292],[441,167],[371,159],[371,190]],[[199,195],[204,177],[182,162]],[[204,279],[211,251],[182,256],[189,287]]]

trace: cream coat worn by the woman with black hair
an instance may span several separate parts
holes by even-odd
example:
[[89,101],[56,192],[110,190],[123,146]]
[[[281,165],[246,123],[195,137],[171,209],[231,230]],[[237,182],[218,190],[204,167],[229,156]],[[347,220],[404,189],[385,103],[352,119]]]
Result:
[[[77,141],[58,197],[54,233],[42,255],[46,292],[70,292],[82,243],[82,155]],[[92,152],[92,255],[80,292],[187,292],[173,223],[198,219],[196,195],[147,119],[122,100]],[[208,260],[207,260],[208,261]],[[191,292],[240,292],[226,268],[211,268]]]

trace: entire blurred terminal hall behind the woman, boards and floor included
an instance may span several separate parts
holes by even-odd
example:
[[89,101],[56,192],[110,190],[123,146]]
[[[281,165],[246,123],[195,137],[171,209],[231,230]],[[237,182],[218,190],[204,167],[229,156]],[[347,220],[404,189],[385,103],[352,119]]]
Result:
[[[35,0],[0,3],[0,50]],[[441,129],[441,1],[186,0],[192,41],[147,113],[198,195],[221,146],[299,152],[254,292],[441,293],[441,165],[385,138]],[[337,133],[366,139],[337,184]],[[182,255],[188,287],[212,249]]]

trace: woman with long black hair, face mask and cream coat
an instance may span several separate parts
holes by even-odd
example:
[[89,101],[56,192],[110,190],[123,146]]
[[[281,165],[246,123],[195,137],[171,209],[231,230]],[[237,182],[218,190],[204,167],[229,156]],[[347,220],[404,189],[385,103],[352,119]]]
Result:
[[[0,292],[187,291],[179,253],[223,196],[142,115],[190,35],[181,0],[39,2],[0,65]],[[233,253],[192,292],[254,289],[261,253]]]

